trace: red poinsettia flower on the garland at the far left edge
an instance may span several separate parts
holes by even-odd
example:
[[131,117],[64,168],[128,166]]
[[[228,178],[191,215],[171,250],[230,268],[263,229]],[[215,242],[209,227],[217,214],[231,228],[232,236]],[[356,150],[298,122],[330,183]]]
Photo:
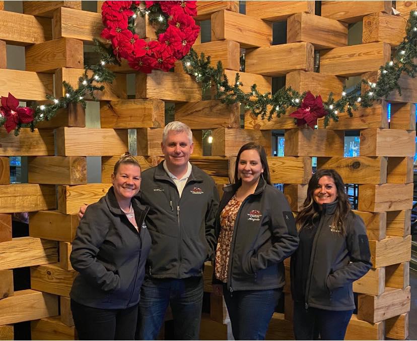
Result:
[[35,110],[27,106],[19,106],[19,101],[10,92],[8,97],[2,96],[0,111],[6,119],[4,124],[8,133],[14,130],[19,123],[28,124],[33,121]]

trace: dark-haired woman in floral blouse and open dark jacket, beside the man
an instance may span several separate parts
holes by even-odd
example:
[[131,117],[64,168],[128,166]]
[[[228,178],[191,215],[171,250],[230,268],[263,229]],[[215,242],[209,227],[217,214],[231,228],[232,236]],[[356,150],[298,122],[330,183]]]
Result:
[[295,220],[284,194],[270,183],[260,145],[240,148],[235,183],[224,192],[214,291],[223,290],[235,339],[264,339],[285,284],[283,260],[298,245]]

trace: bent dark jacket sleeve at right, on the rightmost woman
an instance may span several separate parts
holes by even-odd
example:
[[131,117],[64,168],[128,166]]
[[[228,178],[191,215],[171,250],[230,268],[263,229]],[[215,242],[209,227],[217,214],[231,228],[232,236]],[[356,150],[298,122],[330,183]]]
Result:
[[350,255],[350,263],[327,277],[326,285],[329,290],[344,287],[347,283],[361,278],[372,266],[364,221],[355,214],[351,225],[347,228],[349,231],[346,232],[346,247]]

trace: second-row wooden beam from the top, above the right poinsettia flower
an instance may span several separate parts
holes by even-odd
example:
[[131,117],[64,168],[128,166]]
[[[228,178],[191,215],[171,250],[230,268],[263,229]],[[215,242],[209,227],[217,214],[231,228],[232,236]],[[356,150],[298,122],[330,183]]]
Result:
[[347,24],[305,12],[287,21],[287,43],[306,41],[315,50],[347,46]]

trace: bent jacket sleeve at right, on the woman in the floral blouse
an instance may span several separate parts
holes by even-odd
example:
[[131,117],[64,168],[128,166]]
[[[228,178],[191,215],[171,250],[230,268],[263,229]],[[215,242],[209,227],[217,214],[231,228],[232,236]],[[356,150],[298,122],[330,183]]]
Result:
[[298,247],[299,238],[290,204],[284,194],[281,192],[276,194],[278,197],[271,198],[271,204],[274,203],[276,207],[269,209],[272,247],[266,251],[257,252],[250,258],[253,271],[284,261]]

